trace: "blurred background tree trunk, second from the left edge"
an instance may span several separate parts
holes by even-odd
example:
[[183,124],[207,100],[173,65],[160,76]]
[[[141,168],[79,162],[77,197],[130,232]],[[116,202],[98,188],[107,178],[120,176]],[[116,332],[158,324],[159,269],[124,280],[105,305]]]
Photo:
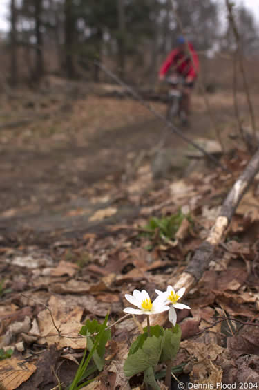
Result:
[[43,37],[41,32],[42,0],[35,1],[36,66],[35,80],[39,81],[44,73]]

